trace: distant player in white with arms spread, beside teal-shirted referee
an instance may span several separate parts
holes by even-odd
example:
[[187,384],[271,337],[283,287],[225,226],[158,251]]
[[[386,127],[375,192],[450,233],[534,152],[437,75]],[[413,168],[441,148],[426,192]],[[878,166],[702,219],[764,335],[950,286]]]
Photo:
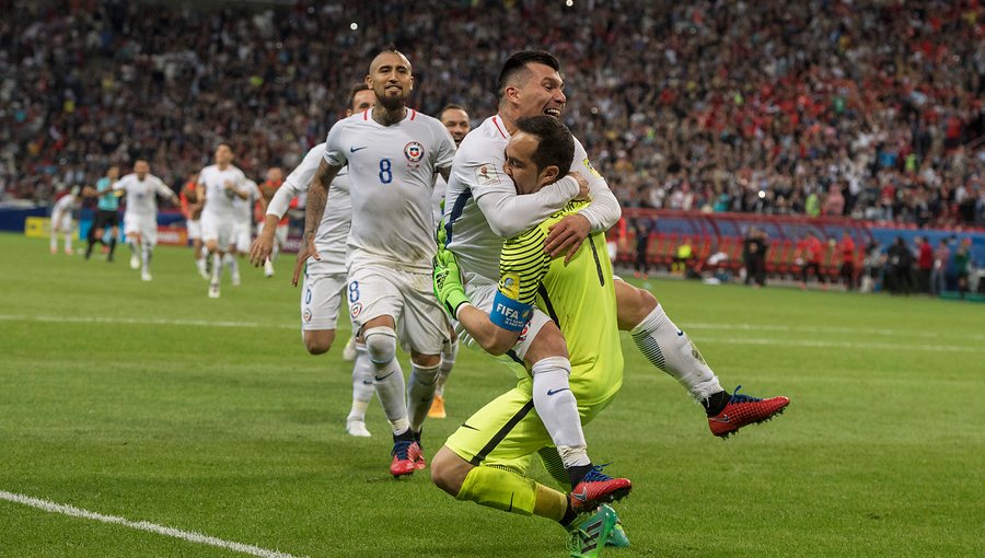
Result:
[[153,279],[151,256],[158,245],[158,196],[170,199],[176,207],[181,200],[161,178],[150,174],[150,164],[144,160],[136,161],[134,173],[117,181],[113,189],[124,190],[127,196],[124,234],[130,246],[130,268],[139,268],[140,279],[150,281]]

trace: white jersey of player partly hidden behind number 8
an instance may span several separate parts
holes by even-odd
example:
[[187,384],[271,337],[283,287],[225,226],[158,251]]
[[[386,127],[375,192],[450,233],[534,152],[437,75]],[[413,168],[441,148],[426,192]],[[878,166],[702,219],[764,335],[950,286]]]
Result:
[[[270,205],[267,206],[267,214],[278,219],[287,213],[291,199],[308,191],[311,179],[318,170],[318,164],[325,154],[325,144],[318,143],[304,155],[304,160],[283,181],[283,185],[274,194]],[[345,274],[346,272],[346,239],[352,223],[352,202],[349,199],[348,167],[344,167],[335,175],[332,186],[328,188],[328,202],[325,213],[315,233],[315,248],[322,256],[321,261],[314,258],[308,259],[309,272],[318,274]]]

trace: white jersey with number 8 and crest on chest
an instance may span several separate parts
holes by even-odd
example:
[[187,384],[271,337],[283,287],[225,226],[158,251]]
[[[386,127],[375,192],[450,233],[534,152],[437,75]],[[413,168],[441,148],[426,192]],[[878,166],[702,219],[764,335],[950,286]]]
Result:
[[332,127],[325,161],[348,164],[351,182],[347,266],[372,261],[430,272],[437,251],[434,176],[451,166],[454,154],[455,142],[441,121],[410,108],[392,126],[366,111]]

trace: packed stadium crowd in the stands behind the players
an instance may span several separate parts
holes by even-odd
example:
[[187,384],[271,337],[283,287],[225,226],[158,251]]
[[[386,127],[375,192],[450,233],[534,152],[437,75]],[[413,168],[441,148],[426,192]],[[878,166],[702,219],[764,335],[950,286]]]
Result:
[[147,158],[179,187],[229,141],[293,167],[395,43],[415,102],[475,123],[522,47],[628,207],[985,225],[977,0],[143,4],[0,0],[0,196],[47,201]]

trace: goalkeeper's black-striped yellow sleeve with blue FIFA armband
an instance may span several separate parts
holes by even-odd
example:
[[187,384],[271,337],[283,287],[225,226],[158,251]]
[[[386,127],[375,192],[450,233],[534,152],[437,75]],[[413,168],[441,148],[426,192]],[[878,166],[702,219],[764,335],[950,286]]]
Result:
[[551,256],[544,254],[545,237],[546,233],[537,226],[502,244],[499,289],[489,319],[503,329],[519,332],[530,321],[537,289],[551,266]]

